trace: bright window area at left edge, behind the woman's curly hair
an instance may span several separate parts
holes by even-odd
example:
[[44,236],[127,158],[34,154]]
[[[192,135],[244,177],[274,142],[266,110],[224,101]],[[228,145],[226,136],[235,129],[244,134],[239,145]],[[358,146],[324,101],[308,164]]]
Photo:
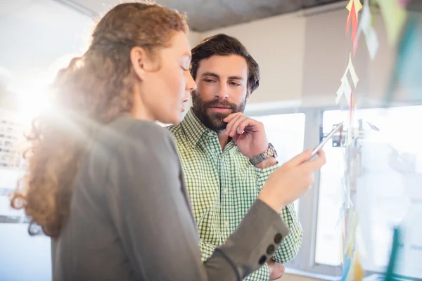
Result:
[[[0,109],[0,280],[51,280],[51,240],[28,234],[29,218],[12,209],[8,194],[25,171],[18,150],[23,129]],[[25,268],[25,270],[23,270]]]

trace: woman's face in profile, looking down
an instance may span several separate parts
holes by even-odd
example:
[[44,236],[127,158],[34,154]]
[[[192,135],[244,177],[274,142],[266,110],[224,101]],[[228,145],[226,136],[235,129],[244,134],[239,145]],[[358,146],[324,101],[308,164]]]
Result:
[[171,44],[155,55],[159,67],[143,72],[141,100],[152,119],[164,124],[177,124],[184,102],[196,83],[189,72],[191,46],[184,32],[174,32]]

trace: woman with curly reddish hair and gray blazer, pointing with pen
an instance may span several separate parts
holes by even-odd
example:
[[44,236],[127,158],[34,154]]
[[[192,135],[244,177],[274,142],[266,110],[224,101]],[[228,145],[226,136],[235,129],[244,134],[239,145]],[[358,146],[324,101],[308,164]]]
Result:
[[57,110],[34,123],[23,190],[12,198],[53,241],[53,280],[241,280],[287,235],[278,211],[303,195],[324,153],[269,178],[226,244],[200,262],[170,133],[196,88],[187,26],[155,4],[120,4],[82,58],[59,73]]

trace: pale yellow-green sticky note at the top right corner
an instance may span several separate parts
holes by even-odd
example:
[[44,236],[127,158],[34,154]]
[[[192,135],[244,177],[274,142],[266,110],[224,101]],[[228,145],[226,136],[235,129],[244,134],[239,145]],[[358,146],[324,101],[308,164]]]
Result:
[[376,0],[383,15],[388,43],[395,45],[406,21],[406,10],[397,0]]

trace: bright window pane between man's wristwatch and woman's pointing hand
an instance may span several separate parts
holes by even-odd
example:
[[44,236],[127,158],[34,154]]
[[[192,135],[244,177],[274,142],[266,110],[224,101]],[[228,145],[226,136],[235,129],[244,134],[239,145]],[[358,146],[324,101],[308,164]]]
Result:
[[[284,163],[303,151],[305,139],[305,114],[264,115],[252,117],[264,124],[267,140],[274,145],[280,163]],[[299,200],[295,202],[296,214]]]

